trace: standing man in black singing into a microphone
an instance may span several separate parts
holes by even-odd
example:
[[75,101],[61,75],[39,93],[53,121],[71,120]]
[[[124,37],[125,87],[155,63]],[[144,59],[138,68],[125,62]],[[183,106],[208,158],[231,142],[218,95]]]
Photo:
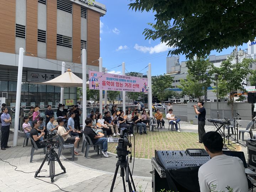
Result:
[[205,126],[205,116],[206,116],[206,110],[204,108],[204,102],[203,101],[198,101],[197,106],[199,107],[199,110],[197,110],[196,105],[193,105],[194,110],[196,114],[198,114],[198,137],[199,140],[197,143],[202,143],[202,139],[205,132],[204,126]]

